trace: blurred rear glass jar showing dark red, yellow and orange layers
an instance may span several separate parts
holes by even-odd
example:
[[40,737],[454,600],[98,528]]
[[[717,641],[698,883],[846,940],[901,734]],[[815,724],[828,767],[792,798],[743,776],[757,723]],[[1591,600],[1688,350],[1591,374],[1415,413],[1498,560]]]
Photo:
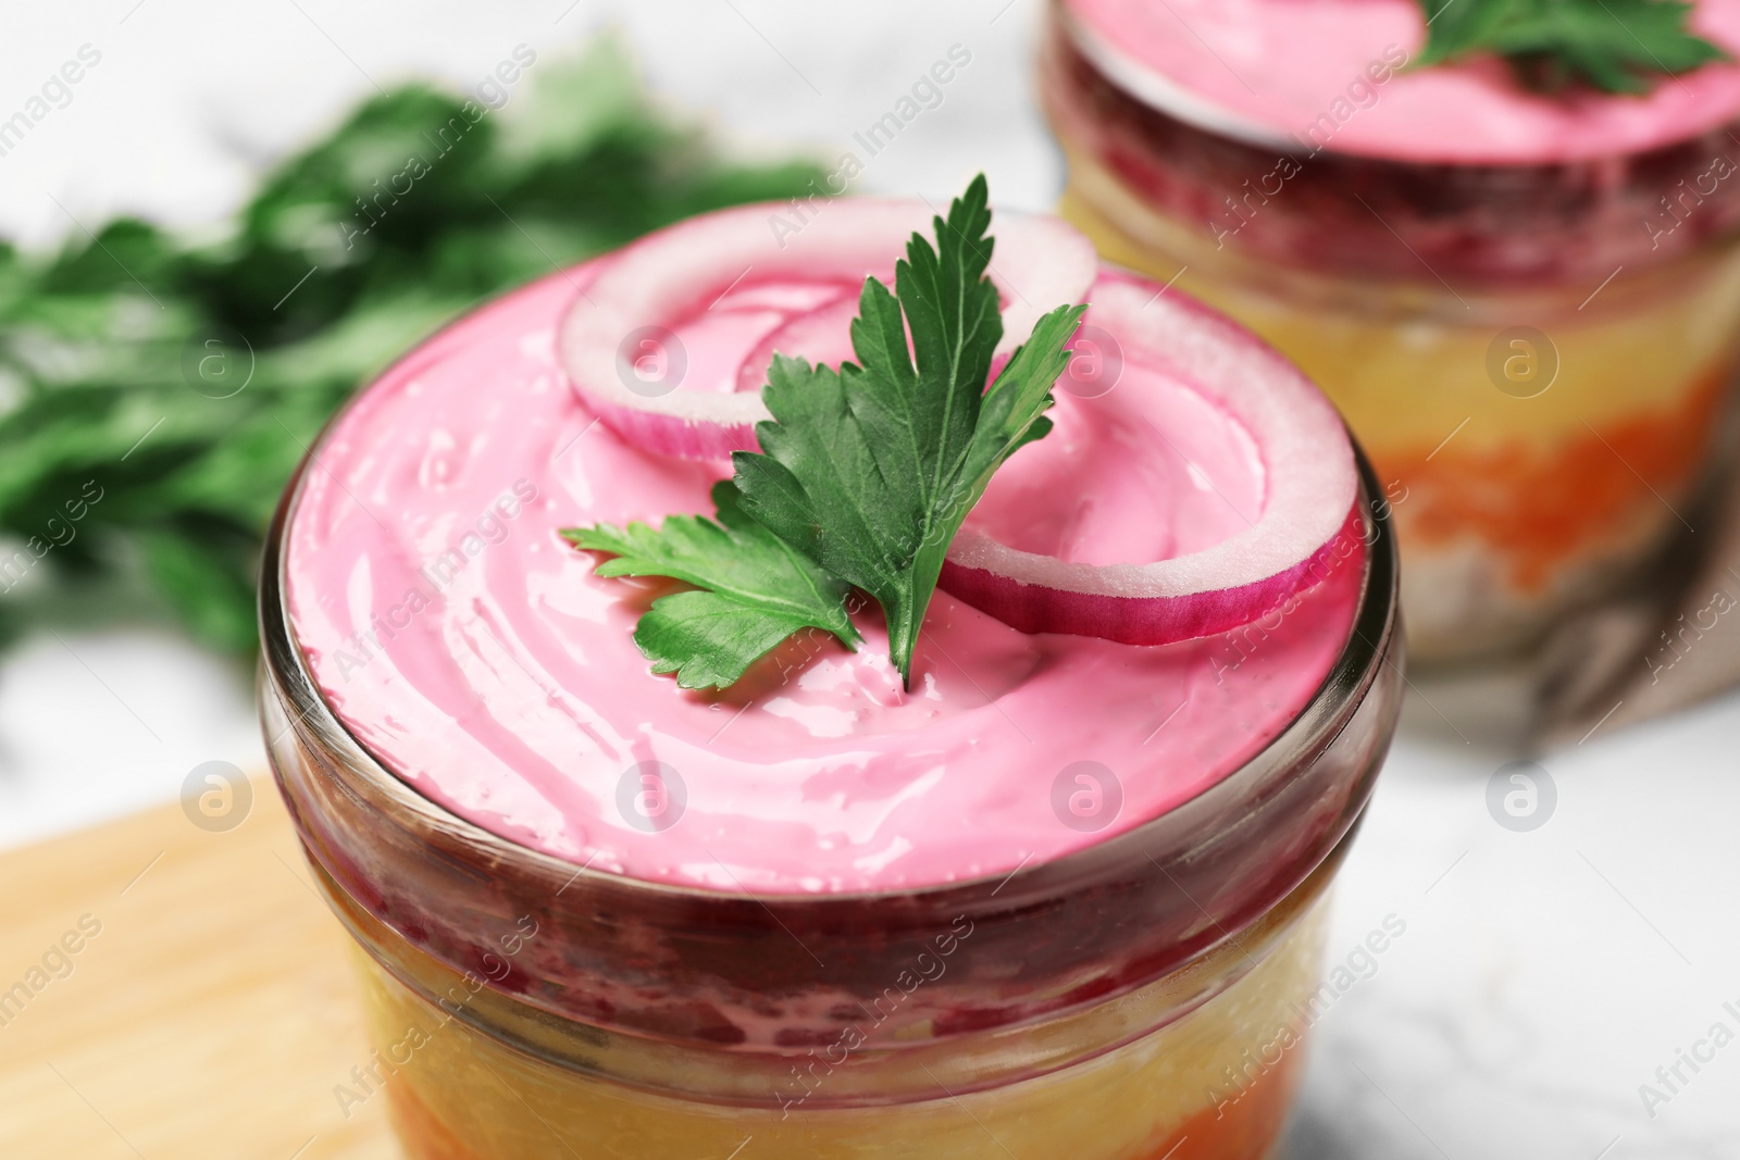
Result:
[[1538,165],[1307,150],[1216,118],[1068,0],[1041,89],[1063,216],[1342,409],[1395,511],[1411,659],[1519,652],[1690,532],[1740,322],[1726,129]]

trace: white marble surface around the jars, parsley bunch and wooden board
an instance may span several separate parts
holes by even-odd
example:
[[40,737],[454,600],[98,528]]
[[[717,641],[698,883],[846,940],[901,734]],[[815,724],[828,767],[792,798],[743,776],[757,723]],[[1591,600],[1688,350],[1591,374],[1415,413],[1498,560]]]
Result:
[[[75,228],[70,216],[96,223],[124,209],[197,226],[376,82],[475,82],[517,43],[560,52],[606,23],[626,30],[663,97],[738,148],[823,160],[962,43],[973,64],[860,188],[934,200],[985,169],[1002,203],[1046,207],[1061,163],[1027,85],[1037,10],[1037,0],[31,5],[9,14],[0,38],[0,117],[80,45],[103,63],[0,157],[0,231],[49,243]],[[1540,758],[1557,807],[1529,833],[1486,805],[1489,776],[1516,755],[1474,718],[1455,723],[1467,744],[1423,703],[1409,706],[1343,871],[1331,962],[1389,915],[1406,932],[1317,1024],[1286,1155],[1740,1160],[1740,1042],[1696,1073],[1681,1064],[1677,1092],[1655,1075],[1719,1021],[1740,1035],[1723,1007],[1740,1012],[1740,697],[1596,730]],[[261,762],[249,673],[165,630],[68,624],[0,657],[0,845],[169,800],[207,760]],[[1643,1083],[1670,1096],[1653,1117]]]

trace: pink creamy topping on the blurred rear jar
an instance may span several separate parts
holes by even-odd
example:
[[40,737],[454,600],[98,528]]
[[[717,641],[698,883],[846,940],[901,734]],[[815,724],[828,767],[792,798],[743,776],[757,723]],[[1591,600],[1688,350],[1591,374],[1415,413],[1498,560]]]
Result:
[[[1646,96],[1536,96],[1495,57],[1397,73],[1385,64],[1411,61],[1425,45],[1416,0],[1065,7],[1082,45],[1103,68],[1128,70],[1112,78],[1136,96],[1295,153],[1326,144],[1416,162],[1545,163],[1648,150],[1740,117],[1740,64],[1667,78]],[[1698,0],[1691,28],[1740,56],[1740,0]],[[1312,125],[1324,127],[1307,141]]]

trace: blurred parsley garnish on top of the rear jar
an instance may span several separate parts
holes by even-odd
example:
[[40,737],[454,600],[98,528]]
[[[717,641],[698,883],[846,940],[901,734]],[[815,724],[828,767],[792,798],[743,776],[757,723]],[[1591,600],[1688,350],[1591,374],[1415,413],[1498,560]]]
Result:
[[1646,92],[1650,78],[1731,59],[1686,28],[1681,0],[1420,0],[1430,30],[1418,66],[1496,52],[1533,89],[1582,80]]

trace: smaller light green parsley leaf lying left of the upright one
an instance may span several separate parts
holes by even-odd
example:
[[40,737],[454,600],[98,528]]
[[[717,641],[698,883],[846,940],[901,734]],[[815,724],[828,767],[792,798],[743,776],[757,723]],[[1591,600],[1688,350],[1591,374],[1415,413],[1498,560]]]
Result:
[[599,576],[670,576],[699,591],[659,597],[635,626],[635,643],[654,673],[677,673],[684,689],[729,685],[776,643],[804,628],[847,645],[861,637],[846,617],[846,584],[743,515],[729,480],[713,487],[719,518],[665,517],[618,529],[564,529],[576,548],[614,553]]

